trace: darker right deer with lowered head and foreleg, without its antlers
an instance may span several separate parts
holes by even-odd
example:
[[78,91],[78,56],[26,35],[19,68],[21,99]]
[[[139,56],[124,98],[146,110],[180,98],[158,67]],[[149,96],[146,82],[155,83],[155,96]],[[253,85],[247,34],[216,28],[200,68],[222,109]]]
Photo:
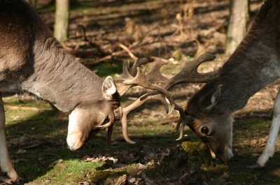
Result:
[[[221,161],[232,158],[232,113],[280,77],[280,1],[267,0],[251,29],[221,68],[221,80],[208,82],[190,98],[186,114],[195,131]],[[280,93],[262,155],[251,168],[263,168],[274,155],[280,126]]]

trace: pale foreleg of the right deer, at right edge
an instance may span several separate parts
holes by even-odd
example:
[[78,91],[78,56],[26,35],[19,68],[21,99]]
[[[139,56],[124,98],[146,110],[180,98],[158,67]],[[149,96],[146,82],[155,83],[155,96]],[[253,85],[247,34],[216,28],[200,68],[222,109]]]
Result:
[[258,158],[258,161],[255,165],[252,165],[250,168],[264,168],[266,163],[272,159],[275,151],[276,139],[280,127],[280,89],[274,101],[273,107],[273,118],[272,126],[270,127],[267,143],[265,144],[265,149],[262,151],[262,154]]

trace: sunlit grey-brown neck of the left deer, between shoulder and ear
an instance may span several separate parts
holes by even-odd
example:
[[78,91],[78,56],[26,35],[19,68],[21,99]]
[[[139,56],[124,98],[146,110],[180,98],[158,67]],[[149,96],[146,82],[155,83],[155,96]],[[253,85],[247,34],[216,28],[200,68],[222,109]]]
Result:
[[81,101],[102,98],[104,80],[73,59],[55,38],[48,38],[43,45],[35,43],[34,53],[34,61],[26,66],[31,75],[22,81],[22,89],[63,112],[73,110]]

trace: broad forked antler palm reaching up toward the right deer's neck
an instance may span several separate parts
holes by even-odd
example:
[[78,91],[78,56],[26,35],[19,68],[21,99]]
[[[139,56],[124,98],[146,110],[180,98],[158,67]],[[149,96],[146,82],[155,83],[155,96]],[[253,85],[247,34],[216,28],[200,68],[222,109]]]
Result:
[[193,61],[187,61],[185,59],[185,65],[183,69],[174,77],[172,77],[167,84],[165,84],[165,89],[169,89],[176,84],[183,84],[183,83],[205,83],[211,80],[218,80],[221,79],[219,75],[219,71],[221,67],[218,67],[215,71],[211,71],[209,73],[198,73],[197,68],[200,64],[204,63],[205,61],[211,61],[216,58],[213,54],[202,54],[200,57],[193,59]]

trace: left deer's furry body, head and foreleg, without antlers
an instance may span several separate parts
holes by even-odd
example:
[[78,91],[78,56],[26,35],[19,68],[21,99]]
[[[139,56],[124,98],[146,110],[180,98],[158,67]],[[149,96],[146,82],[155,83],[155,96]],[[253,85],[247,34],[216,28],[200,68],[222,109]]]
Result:
[[[104,81],[73,59],[28,3],[0,0],[0,17],[0,92],[26,90],[63,112],[73,112],[67,136],[72,150],[81,147],[91,131],[99,131],[98,126],[116,120],[113,111],[120,106],[120,96],[114,91],[113,79]],[[2,134],[2,101],[0,108]],[[10,179],[18,179],[4,134],[0,137],[0,162]]]

